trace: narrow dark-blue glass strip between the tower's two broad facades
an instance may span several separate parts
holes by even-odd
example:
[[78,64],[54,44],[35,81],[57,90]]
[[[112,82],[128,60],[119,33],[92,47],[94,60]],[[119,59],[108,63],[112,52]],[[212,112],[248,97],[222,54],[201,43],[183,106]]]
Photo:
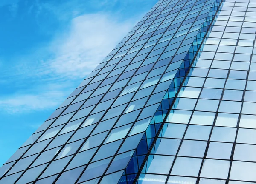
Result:
[[[154,117],[145,119],[145,121],[140,121],[139,125],[143,123],[146,124],[146,122],[150,122],[150,124],[147,124],[148,127],[145,130],[143,139],[140,140],[136,150],[134,151],[131,160],[129,161],[122,177],[119,180],[119,184],[132,183],[134,180],[136,180],[137,176],[139,176],[139,170],[143,168],[142,166],[144,165],[143,162],[146,161],[146,156],[148,156],[148,154],[150,153],[154,142],[158,140],[155,139],[156,135],[158,135],[158,132],[161,130],[161,126],[163,126],[163,120],[166,118],[168,110],[174,102],[173,99],[175,98],[177,91],[179,91],[180,84],[182,83],[184,76],[187,75],[187,72],[192,63],[193,65],[195,65],[198,57],[200,56],[202,50],[201,46],[205,40],[205,36],[207,32],[212,29],[212,24],[215,22],[214,17],[218,15],[221,7],[221,1],[216,0],[211,7],[204,23],[202,24],[202,27],[198,31],[198,34],[193,41],[193,44],[190,46],[189,51],[181,62],[182,64],[180,65],[180,68],[178,69],[173,81],[171,82],[171,85],[169,86],[167,92],[165,92],[164,98],[161,101],[159,107],[157,108]],[[192,70],[189,71],[188,76],[190,76],[191,73]],[[178,103],[177,100],[175,101],[175,103]],[[116,166],[118,166],[118,164],[116,164]]]

